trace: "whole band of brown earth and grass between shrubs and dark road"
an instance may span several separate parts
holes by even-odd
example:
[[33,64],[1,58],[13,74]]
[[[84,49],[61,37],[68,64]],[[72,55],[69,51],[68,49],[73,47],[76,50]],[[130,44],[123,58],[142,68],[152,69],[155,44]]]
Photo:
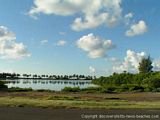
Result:
[[0,97],[0,106],[42,108],[129,109],[160,108],[159,94],[99,94],[9,92]]

